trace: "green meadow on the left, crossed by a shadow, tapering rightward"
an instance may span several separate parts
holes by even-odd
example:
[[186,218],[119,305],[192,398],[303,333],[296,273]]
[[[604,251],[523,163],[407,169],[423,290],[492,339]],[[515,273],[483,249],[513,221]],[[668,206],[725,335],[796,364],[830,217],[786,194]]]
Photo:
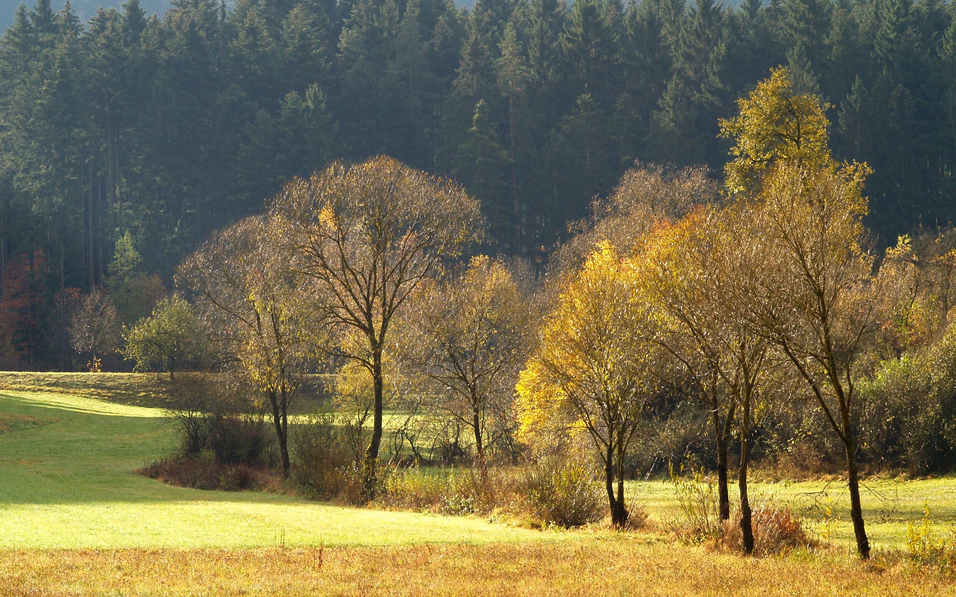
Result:
[[0,435],[0,548],[484,544],[559,536],[475,518],[164,485],[133,472],[173,447],[174,431],[155,408],[5,392],[0,414],[45,422]]

